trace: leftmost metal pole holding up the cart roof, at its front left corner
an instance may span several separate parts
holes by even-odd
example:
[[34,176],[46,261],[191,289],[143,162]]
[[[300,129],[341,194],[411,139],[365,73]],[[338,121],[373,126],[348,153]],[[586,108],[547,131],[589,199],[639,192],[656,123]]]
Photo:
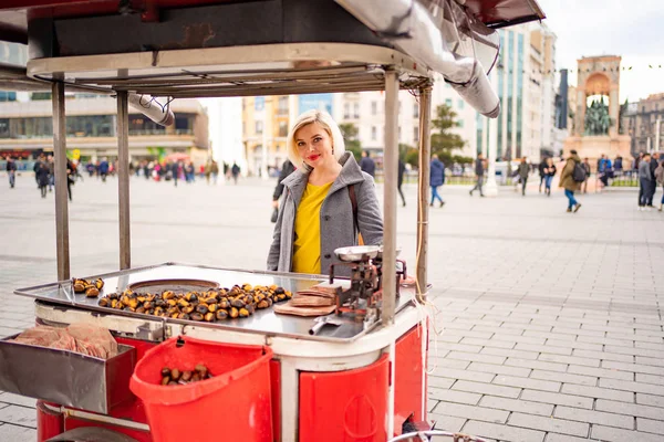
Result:
[[55,160],[55,249],[58,280],[70,278],[69,208],[66,194],[66,120],[64,116],[64,83],[55,82],[53,95],[53,152]]

